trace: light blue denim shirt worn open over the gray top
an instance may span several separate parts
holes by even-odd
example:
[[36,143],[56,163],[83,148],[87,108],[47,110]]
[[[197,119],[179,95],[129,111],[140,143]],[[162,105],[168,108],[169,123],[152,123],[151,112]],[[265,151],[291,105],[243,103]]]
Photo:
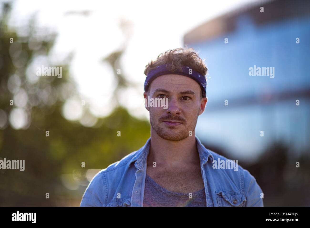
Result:
[[[98,172],[86,188],[80,206],[142,207],[150,140]],[[231,160],[206,149],[197,136],[196,145],[207,207],[263,207],[263,192],[249,171],[236,163],[238,168],[216,167],[216,162]]]

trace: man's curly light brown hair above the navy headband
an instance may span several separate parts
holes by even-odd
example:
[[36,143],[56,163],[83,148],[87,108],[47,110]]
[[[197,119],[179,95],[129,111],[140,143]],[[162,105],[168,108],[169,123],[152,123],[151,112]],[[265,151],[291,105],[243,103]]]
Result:
[[201,73],[206,78],[208,69],[205,66],[204,60],[202,60],[193,48],[175,48],[173,50],[167,50],[165,53],[161,53],[157,56],[157,60],[148,63],[145,66],[144,74],[148,75],[148,72],[159,65],[169,64],[171,69],[169,71],[174,72],[177,69],[182,70],[182,66],[189,66],[193,70]]

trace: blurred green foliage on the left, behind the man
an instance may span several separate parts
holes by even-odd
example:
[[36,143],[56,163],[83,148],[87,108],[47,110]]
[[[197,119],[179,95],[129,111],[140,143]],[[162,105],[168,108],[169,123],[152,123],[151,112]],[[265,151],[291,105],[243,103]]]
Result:
[[[39,60],[49,60],[56,34],[38,29],[35,20],[30,20],[29,35],[20,37],[7,27],[9,13],[10,5],[4,4],[0,20],[0,111],[5,125],[0,128],[0,158],[25,160],[25,170],[0,170],[0,206],[78,206],[89,183],[86,171],[106,168],[138,150],[150,136],[150,125],[131,117],[120,106],[108,117],[98,119],[92,128],[66,120],[61,115],[64,102],[79,97],[69,76],[72,56],[56,66],[62,67],[62,78],[40,76],[35,80],[36,67],[43,65]],[[111,54],[115,55],[119,58],[121,53]],[[47,64],[54,67],[49,61]],[[18,106],[16,94],[20,91],[27,103]],[[10,125],[14,109],[27,115],[28,124],[22,129]],[[75,190],[68,189],[70,185]]]

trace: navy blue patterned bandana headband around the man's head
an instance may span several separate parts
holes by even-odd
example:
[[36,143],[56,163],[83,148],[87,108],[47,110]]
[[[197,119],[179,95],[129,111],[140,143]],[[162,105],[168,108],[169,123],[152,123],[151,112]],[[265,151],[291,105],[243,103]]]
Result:
[[[207,82],[206,78],[203,74],[194,71],[189,66],[183,66],[182,71],[177,69],[175,72],[171,72],[167,69],[167,64],[157,66],[155,69],[150,70],[148,73],[148,76],[146,76],[145,82],[144,82],[144,91],[148,91],[148,87],[150,86],[151,82],[157,78],[158,76],[164,75],[164,74],[180,74],[187,76],[189,78],[192,78],[195,80],[201,88],[202,91],[202,97],[206,97],[206,89],[207,89]],[[191,74],[190,74],[191,73]]]

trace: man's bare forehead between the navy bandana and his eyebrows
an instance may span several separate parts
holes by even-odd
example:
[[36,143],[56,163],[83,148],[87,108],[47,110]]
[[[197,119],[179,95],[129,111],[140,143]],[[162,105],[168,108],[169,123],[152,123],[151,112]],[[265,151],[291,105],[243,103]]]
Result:
[[154,91],[158,89],[158,87],[166,89],[167,91],[173,89],[191,89],[194,92],[197,92],[197,90],[200,90],[200,86],[194,79],[180,74],[165,74],[158,76],[151,83],[150,89]]

